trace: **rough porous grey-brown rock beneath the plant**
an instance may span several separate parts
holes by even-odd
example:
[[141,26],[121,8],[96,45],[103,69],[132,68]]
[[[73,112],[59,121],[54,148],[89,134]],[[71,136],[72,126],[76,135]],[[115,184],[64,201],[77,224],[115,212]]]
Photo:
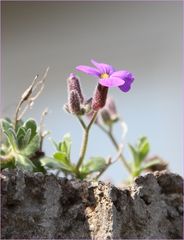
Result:
[[127,188],[4,170],[1,239],[182,239],[183,180],[169,172]]

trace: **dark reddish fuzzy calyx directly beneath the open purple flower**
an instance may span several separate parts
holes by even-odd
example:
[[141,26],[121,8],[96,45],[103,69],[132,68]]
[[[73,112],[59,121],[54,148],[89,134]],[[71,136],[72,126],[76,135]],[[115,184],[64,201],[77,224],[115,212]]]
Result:
[[97,85],[93,95],[93,100],[91,105],[94,111],[98,111],[99,109],[105,106],[107,93],[108,93],[108,87],[102,86],[101,84]]

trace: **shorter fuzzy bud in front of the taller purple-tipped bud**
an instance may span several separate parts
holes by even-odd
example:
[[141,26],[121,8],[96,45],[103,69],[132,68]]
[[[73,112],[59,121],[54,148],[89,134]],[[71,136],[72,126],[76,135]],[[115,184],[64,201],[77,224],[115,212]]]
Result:
[[68,109],[70,113],[79,115],[81,113],[80,97],[77,91],[72,90],[69,93]]

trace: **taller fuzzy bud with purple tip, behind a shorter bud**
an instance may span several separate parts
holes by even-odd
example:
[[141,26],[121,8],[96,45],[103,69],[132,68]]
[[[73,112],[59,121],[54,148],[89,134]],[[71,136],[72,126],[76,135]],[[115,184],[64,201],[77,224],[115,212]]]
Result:
[[68,95],[70,95],[71,91],[76,91],[78,93],[80,103],[83,103],[84,97],[81,91],[80,82],[77,76],[73,73],[71,73],[68,78]]

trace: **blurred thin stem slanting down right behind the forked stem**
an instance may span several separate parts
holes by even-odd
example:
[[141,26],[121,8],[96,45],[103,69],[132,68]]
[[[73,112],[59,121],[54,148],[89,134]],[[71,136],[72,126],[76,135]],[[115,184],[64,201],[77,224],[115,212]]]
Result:
[[[118,145],[118,143],[117,143],[117,141],[116,141],[116,139],[115,139],[115,137],[114,137],[114,135],[113,135],[113,133],[112,133],[112,127],[109,127],[109,129],[107,130],[106,128],[104,128],[104,127],[103,127],[102,125],[100,125],[100,124],[98,124],[98,126],[100,127],[100,129],[101,129],[103,132],[105,132],[105,133],[109,136],[109,138],[110,138],[111,142],[113,143],[114,147],[116,148],[117,151],[119,151],[119,145]],[[130,174],[132,174],[132,171],[131,171],[131,169],[130,169],[130,166],[128,165],[128,163],[127,163],[127,161],[126,161],[126,159],[125,159],[125,157],[123,156],[122,153],[119,155],[119,158],[120,158],[121,161],[123,162],[123,164],[124,164],[124,166],[126,167],[127,171],[128,171]]]

